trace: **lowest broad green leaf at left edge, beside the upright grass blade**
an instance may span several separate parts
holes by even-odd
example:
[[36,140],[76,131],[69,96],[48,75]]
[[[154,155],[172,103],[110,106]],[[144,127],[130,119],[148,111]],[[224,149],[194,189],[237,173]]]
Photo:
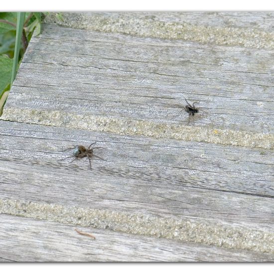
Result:
[[6,55],[0,55],[0,98],[4,89],[10,84],[12,59]]

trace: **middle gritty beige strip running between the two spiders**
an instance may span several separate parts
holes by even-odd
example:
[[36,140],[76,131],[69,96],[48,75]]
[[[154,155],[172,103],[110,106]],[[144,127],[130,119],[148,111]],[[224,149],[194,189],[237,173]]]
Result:
[[274,148],[273,134],[226,129],[208,129],[181,124],[134,120],[130,118],[112,118],[60,111],[5,108],[1,119],[45,126],[109,132],[121,135],[172,138],[265,149]]

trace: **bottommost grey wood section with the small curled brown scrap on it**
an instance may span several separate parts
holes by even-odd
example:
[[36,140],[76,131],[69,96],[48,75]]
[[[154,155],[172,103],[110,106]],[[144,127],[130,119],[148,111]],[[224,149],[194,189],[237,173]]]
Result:
[[[181,243],[0,214],[0,260],[16,262],[261,262],[274,255]],[[91,233],[95,240],[79,235]],[[195,254],[195,256],[193,256]]]

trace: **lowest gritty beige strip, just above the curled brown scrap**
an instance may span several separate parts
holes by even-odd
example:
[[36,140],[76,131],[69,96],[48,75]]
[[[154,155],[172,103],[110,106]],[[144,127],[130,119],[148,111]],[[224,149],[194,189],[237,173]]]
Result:
[[14,199],[0,199],[0,213],[228,249],[274,253],[274,233],[216,222],[159,218]]

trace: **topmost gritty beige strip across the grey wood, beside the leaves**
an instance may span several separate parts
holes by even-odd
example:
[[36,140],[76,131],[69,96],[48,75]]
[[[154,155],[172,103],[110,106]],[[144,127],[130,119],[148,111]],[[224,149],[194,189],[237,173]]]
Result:
[[207,26],[185,21],[155,20],[153,16],[134,16],[129,12],[114,13],[63,13],[63,20],[54,14],[45,18],[47,23],[57,23],[72,28],[101,32],[117,32],[140,37],[182,39],[199,43],[274,48],[274,33],[255,28]]

